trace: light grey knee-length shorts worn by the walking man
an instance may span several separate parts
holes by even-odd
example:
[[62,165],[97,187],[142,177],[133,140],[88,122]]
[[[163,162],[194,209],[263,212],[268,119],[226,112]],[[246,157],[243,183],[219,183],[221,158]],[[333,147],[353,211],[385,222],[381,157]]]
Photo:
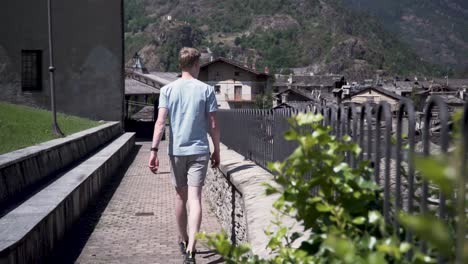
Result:
[[209,154],[169,156],[172,184],[175,187],[200,187],[205,184]]

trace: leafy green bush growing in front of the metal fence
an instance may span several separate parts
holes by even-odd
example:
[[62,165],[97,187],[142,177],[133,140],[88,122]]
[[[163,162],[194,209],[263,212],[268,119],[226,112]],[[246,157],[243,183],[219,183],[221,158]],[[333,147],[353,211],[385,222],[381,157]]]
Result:
[[[292,232],[280,219],[273,223],[277,231],[269,233],[269,259],[249,255],[248,245],[233,246],[224,234],[201,235],[208,245],[228,263],[434,263],[435,253],[453,260],[454,238],[447,224],[434,217],[403,213],[399,230],[385,222],[380,213],[383,192],[371,179],[369,164],[362,162],[352,168],[345,161],[345,153],[357,156],[361,149],[347,135],[333,136],[330,127],[321,125],[322,120],[312,113],[291,118],[285,138],[296,141],[298,147],[285,161],[269,166],[281,187],[267,186],[266,193],[280,194],[274,203],[278,215],[294,217],[304,232]],[[420,166],[427,162],[434,160],[418,159]],[[432,170],[422,173],[431,174],[429,179],[442,190],[453,190],[447,177],[437,174],[443,166],[447,165],[432,164]],[[428,254],[419,251],[417,239],[413,244],[404,241],[408,230],[428,242]],[[299,246],[292,247],[294,242]],[[409,261],[408,253],[412,256]]]

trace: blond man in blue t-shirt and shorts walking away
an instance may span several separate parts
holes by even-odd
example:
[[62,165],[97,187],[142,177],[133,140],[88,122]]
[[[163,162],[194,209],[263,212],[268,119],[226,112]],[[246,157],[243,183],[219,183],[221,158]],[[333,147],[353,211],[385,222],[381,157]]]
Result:
[[[172,183],[176,190],[175,214],[179,246],[185,255],[184,263],[195,263],[195,235],[201,224],[201,193],[208,162],[211,160],[212,167],[219,165],[217,102],[213,87],[197,80],[200,52],[194,48],[183,48],[179,53],[179,63],[182,77],[161,88],[149,168],[153,173],[158,171],[158,146],[166,117],[169,117],[168,153]],[[208,133],[214,145],[211,157]],[[187,203],[190,212],[188,217]]]

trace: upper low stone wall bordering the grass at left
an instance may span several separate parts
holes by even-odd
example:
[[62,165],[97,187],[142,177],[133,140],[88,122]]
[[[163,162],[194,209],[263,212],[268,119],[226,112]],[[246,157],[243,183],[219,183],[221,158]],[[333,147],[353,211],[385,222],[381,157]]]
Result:
[[0,208],[34,192],[38,184],[82,160],[122,132],[120,122],[110,122],[0,155]]

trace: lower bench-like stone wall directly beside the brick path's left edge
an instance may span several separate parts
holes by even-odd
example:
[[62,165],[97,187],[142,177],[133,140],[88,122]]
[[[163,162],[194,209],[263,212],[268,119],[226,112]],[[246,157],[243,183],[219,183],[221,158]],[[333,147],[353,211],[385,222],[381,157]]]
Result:
[[0,218],[0,263],[41,263],[135,145],[126,133]]

